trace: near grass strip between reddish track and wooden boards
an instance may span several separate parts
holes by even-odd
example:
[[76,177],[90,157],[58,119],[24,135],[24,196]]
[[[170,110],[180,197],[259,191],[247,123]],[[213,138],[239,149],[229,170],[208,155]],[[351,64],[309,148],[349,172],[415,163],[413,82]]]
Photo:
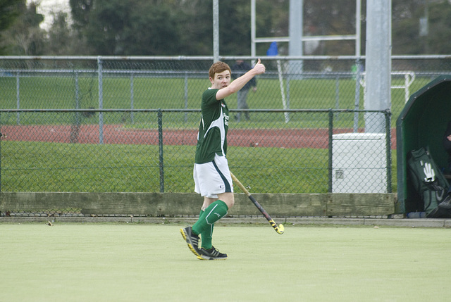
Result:
[[[158,146],[2,141],[1,156],[3,191],[147,192],[160,188]],[[165,191],[192,192],[193,156],[194,146],[164,146]],[[396,153],[392,156],[392,191],[396,191]],[[230,169],[254,192],[328,190],[327,149],[234,146],[228,158]],[[260,161],[266,165],[259,165]],[[280,168],[280,163],[287,164]]]

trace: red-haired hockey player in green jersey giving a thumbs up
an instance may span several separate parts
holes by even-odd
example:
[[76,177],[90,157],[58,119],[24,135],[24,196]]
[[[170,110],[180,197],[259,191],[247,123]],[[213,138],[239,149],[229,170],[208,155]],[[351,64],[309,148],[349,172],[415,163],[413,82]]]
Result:
[[[265,66],[259,59],[254,68],[230,83],[232,72],[229,65],[216,62],[210,67],[211,87],[202,94],[193,171],[194,191],[204,196],[204,203],[197,222],[192,227],[180,229],[188,248],[200,260],[227,259],[226,253],[219,252],[211,244],[214,222],[223,218],[235,203],[226,158],[229,115],[224,99],[264,72]],[[202,238],[200,247],[199,235]]]

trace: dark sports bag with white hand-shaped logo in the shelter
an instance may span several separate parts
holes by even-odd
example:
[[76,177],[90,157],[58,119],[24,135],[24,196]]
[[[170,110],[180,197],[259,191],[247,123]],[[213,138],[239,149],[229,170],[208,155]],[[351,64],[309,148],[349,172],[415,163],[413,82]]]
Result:
[[445,199],[449,185],[428,149],[410,151],[407,167],[417,199],[420,199],[419,205],[426,212],[426,218],[446,218],[448,211],[439,208],[438,204]]

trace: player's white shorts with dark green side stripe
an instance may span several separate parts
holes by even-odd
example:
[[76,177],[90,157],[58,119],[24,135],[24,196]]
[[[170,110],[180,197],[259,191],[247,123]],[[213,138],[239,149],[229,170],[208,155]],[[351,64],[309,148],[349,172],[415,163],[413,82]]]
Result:
[[194,191],[212,199],[221,193],[232,192],[233,182],[226,156],[214,156],[210,163],[194,163]]

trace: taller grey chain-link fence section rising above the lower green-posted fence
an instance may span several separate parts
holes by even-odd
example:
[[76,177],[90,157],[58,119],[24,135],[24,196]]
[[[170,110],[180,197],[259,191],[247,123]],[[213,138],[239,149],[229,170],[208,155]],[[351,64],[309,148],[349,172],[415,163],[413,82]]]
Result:
[[[223,57],[252,63],[251,57]],[[0,57],[2,109],[194,109],[210,86],[211,57]],[[364,110],[365,61],[343,57],[265,57],[251,109]],[[234,71],[234,70],[233,70]],[[396,120],[409,96],[451,72],[449,56],[393,56]],[[237,96],[228,99],[237,108]]]

